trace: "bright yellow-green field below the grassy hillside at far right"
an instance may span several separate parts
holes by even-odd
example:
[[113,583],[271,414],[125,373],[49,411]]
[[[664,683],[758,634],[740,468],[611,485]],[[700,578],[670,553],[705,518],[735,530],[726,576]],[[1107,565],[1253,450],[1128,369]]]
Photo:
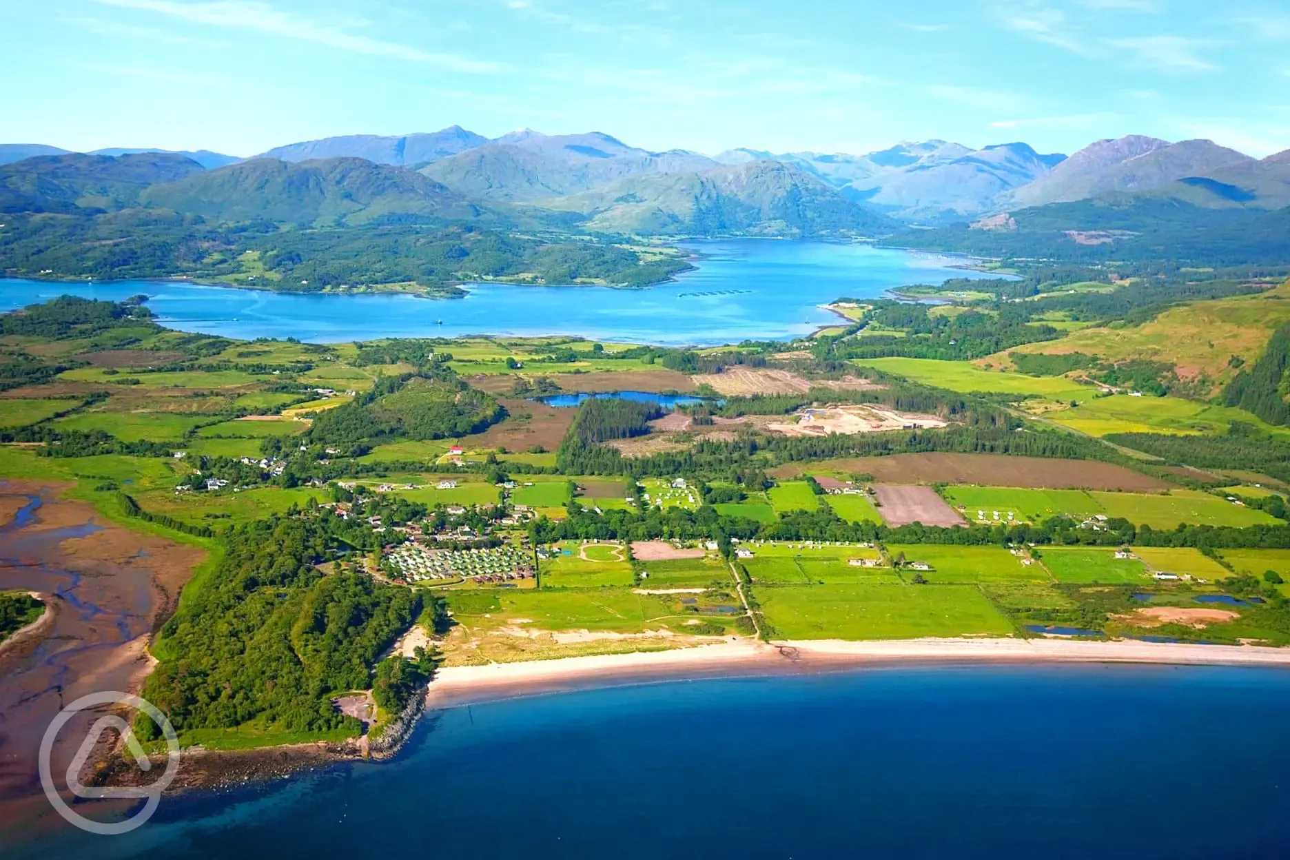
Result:
[[1133,397],[1112,395],[1080,400],[1073,409],[1049,413],[1053,422],[1089,436],[1108,433],[1209,433],[1227,432],[1231,422],[1246,422],[1265,433],[1290,436],[1285,428],[1272,427],[1250,413],[1229,406],[1197,404],[1182,397]]

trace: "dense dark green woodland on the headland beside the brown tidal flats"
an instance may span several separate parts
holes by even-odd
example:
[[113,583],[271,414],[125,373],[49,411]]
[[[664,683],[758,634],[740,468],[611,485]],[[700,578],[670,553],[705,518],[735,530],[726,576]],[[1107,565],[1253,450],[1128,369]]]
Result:
[[366,575],[325,576],[317,565],[348,548],[333,520],[275,517],[228,534],[155,646],[161,663],[143,695],[175,728],[357,732],[330,699],[372,687],[378,656],[424,598]]

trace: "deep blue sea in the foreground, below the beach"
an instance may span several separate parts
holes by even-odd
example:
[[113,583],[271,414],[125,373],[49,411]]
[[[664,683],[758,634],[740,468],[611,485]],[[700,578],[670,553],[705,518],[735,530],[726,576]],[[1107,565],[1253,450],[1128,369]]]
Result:
[[[45,856],[1284,857],[1290,672],[869,669],[440,712]],[[0,850],[3,851],[3,850]]]

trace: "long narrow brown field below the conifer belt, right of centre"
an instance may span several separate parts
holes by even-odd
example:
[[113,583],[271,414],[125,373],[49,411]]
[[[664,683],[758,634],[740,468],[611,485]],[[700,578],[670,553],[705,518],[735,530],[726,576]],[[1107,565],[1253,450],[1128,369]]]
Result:
[[796,478],[808,472],[872,474],[884,484],[980,484],[1044,490],[1124,490],[1155,493],[1173,489],[1167,481],[1098,460],[1057,460],[1002,454],[893,454],[853,456],[819,463],[788,463],[770,472]]

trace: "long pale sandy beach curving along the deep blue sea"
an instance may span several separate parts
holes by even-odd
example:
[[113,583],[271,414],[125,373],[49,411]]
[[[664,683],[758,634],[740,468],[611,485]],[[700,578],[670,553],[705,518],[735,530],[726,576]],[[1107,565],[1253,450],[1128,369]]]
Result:
[[771,645],[734,640],[671,651],[442,668],[435,673],[430,686],[428,707],[450,708],[619,683],[836,672],[866,665],[913,663],[1144,663],[1290,668],[1290,649],[1055,638],[875,642],[813,640],[779,641]]

